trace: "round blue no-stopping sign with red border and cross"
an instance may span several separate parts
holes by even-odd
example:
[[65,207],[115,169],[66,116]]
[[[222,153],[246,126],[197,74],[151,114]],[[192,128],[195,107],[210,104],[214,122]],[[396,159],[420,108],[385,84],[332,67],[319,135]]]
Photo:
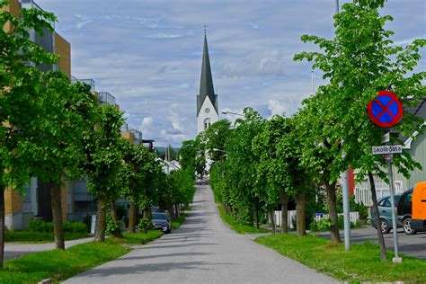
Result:
[[403,104],[395,93],[377,92],[377,98],[367,105],[369,120],[381,128],[391,128],[403,118]]

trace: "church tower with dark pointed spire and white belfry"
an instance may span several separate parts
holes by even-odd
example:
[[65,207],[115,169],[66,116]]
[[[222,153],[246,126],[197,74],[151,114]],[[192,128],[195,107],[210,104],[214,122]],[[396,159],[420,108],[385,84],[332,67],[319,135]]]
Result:
[[207,47],[207,35],[204,32],[204,49],[202,52],[200,94],[197,95],[197,122],[198,133],[209,128],[218,120],[217,94],[213,88],[211,76],[209,49]]

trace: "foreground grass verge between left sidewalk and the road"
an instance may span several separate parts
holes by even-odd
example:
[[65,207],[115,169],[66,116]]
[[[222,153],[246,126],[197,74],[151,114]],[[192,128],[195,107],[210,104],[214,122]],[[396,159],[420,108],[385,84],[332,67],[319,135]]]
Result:
[[92,242],[77,244],[66,251],[29,253],[4,262],[0,283],[37,283],[48,278],[53,281],[66,280],[128,252],[129,248],[120,244]]

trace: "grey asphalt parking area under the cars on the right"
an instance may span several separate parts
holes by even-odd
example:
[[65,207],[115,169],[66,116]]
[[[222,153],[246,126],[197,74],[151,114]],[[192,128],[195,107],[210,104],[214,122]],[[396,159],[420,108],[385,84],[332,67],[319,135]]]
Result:
[[[426,232],[419,232],[416,235],[405,235],[402,228],[398,228],[397,232],[399,253],[404,253],[405,255],[413,256],[426,261]],[[343,241],[343,231],[340,233]],[[315,235],[324,236],[328,239],[330,238],[329,232],[317,233]],[[389,234],[384,235],[384,237],[386,249],[394,251],[394,233],[392,230]],[[351,230],[351,243],[363,243],[365,241],[378,244],[377,232],[375,228],[368,226]]]

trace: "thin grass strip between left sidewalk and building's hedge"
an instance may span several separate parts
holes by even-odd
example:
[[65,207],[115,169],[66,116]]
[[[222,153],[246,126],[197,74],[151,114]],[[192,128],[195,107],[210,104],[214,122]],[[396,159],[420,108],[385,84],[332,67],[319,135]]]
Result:
[[[65,240],[75,240],[89,237],[88,233],[65,233]],[[4,234],[5,242],[18,242],[30,244],[52,243],[55,241],[53,233],[31,232],[31,231],[6,231]]]

